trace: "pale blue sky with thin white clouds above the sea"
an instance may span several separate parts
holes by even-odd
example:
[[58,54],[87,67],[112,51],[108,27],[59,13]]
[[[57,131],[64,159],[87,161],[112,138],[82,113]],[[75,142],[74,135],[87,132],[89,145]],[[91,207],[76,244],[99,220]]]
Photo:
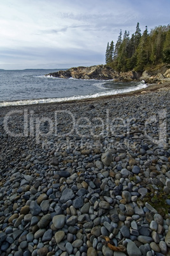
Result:
[[170,23],[170,0],[1,0],[0,69],[105,64],[120,29]]

